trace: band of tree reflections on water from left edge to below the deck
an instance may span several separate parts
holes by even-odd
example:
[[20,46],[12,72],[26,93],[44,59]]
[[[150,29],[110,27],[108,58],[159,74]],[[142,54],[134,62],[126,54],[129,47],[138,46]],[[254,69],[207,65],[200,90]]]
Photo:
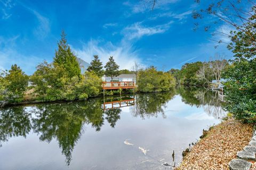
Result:
[[97,98],[78,103],[39,104],[32,108],[27,112],[23,106],[0,111],[0,143],[14,136],[26,137],[33,129],[41,141],[57,140],[67,165],[84,124],[100,131],[106,120],[114,128],[121,113],[121,109],[114,109],[104,114],[102,101]]

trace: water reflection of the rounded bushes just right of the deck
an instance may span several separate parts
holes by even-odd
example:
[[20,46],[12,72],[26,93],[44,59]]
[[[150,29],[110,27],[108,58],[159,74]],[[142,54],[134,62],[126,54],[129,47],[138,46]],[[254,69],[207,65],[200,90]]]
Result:
[[132,107],[132,113],[135,117],[157,117],[162,114],[165,118],[164,108],[167,101],[171,100],[175,92],[154,93],[154,94],[138,94],[135,96],[135,106]]

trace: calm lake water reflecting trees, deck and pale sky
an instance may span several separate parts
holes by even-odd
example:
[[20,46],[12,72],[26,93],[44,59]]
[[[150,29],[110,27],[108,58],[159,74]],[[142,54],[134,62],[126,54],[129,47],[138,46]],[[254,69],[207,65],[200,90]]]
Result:
[[220,122],[220,104],[217,92],[180,87],[1,109],[0,169],[170,169]]

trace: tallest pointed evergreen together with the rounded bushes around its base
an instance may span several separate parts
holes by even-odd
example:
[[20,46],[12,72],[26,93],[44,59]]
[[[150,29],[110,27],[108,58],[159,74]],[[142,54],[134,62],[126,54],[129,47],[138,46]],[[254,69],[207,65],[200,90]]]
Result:
[[[47,62],[39,64],[30,78],[34,94],[39,100],[84,100],[100,93],[101,79],[98,75],[101,70],[96,70],[98,74],[91,71],[81,75],[76,56],[67,45],[65,36],[62,31],[53,64]],[[99,62],[98,56],[94,58],[95,62]],[[101,63],[98,63],[98,69],[102,69],[99,64]]]

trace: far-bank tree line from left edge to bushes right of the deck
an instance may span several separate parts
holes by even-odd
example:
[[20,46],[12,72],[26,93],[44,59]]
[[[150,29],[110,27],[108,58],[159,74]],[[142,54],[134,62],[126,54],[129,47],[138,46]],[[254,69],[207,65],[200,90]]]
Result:
[[[161,92],[174,88],[175,80],[172,75],[157,71],[155,67],[143,69],[135,63],[133,71],[119,70],[119,65],[113,56],[110,56],[104,68],[105,70],[98,55],[94,55],[87,71],[81,73],[77,57],[67,43],[65,32],[62,31],[52,63],[40,63],[30,76],[17,64],[12,65],[9,71],[0,71],[0,107],[26,100],[71,101],[98,96],[101,94],[103,75],[113,80],[122,73],[135,74],[138,91],[141,92]],[[107,95],[114,95],[116,92],[118,91],[110,91]]]

